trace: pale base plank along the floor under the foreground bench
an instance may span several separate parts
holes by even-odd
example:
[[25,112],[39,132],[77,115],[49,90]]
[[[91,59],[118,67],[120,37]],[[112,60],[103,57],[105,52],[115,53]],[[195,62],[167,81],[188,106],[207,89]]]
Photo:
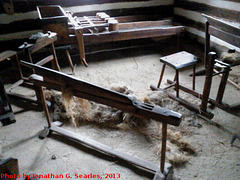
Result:
[[[53,132],[56,132],[60,135],[63,135],[67,138],[70,138],[74,141],[77,141],[78,143],[81,143],[83,144],[84,146],[87,146],[87,147],[90,147],[92,149],[95,149],[101,153],[106,153],[110,156],[113,156],[115,158],[118,158],[118,159],[122,159],[124,161],[127,161],[129,162],[130,164],[133,164],[137,167],[140,167],[140,168],[143,168],[151,173],[155,173],[155,172],[158,172],[160,167],[157,166],[157,165],[154,165],[152,163],[149,163],[148,161],[145,161],[145,160],[142,160],[142,159],[139,159],[139,158],[136,158],[136,157],[133,157],[133,156],[130,156],[126,153],[123,153],[121,151],[118,151],[114,148],[111,148],[109,146],[106,146],[104,144],[101,144],[97,141],[94,141],[94,140],[91,140],[91,139],[88,139],[86,137],[83,137],[79,134],[76,134],[76,133],[73,133],[71,131],[68,131],[68,130],[65,130],[61,127],[57,127],[55,125],[52,125],[51,126],[51,130]],[[169,167],[169,165],[167,165]],[[162,177],[164,177],[164,175],[162,174]]]

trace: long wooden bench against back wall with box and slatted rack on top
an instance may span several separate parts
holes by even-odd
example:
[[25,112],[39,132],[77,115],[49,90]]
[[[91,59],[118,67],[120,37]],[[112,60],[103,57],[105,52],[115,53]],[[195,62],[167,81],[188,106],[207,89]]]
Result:
[[96,16],[76,17],[57,5],[38,6],[37,9],[43,31],[56,32],[60,37],[59,44],[78,44],[80,59],[85,66],[86,44],[168,37],[185,30],[184,26],[174,26],[171,20],[149,21],[146,16],[110,17],[101,12]]

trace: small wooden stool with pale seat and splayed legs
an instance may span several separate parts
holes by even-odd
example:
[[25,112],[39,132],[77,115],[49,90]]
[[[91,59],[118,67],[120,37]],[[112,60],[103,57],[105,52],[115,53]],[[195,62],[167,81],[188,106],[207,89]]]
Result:
[[160,62],[163,63],[162,72],[160,74],[159,82],[157,87],[159,88],[162,82],[163,74],[165,71],[166,65],[174,68],[176,70],[175,78],[174,78],[174,84],[171,84],[169,87],[172,87],[175,85],[176,87],[176,96],[179,97],[179,70],[193,66],[193,84],[192,89],[195,90],[195,69],[196,69],[196,63],[198,61],[198,58],[194,56],[193,54],[190,54],[186,51],[181,51],[175,54],[171,54],[169,56],[164,56],[160,58]]

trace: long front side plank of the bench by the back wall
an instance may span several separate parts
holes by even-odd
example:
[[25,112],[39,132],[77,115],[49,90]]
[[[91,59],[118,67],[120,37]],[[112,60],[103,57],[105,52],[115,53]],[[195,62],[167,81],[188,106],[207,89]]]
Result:
[[151,38],[176,35],[184,31],[184,26],[156,27],[149,29],[133,29],[132,31],[118,31],[94,34],[84,34],[85,43],[113,42],[129,39]]

